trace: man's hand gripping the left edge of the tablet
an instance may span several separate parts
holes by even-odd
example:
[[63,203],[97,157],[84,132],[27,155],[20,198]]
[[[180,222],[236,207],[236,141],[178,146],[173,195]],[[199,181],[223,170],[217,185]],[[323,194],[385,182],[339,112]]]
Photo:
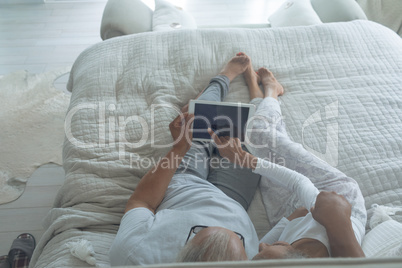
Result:
[[183,113],[169,124],[170,134],[174,140],[173,148],[181,153],[186,153],[191,147],[193,133],[190,130],[190,125],[193,119],[193,114]]

